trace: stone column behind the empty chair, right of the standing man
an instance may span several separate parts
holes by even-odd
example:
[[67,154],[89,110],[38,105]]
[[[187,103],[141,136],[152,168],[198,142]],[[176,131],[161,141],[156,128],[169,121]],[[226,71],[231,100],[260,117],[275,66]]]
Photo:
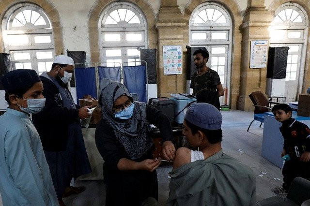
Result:
[[264,0],[248,0],[243,24],[240,25],[242,49],[240,93],[237,102],[239,110],[251,111],[254,109],[253,103],[248,97],[251,92],[261,90],[265,93],[267,68],[250,69],[250,46],[253,40],[268,40],[269,47],[268,28],[271,21],[272,15],[265,9]]

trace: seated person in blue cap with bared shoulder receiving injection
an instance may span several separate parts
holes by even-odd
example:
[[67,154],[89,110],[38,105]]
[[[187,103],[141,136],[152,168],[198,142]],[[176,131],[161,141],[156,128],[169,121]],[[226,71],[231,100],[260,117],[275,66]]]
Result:
[[255,205],[252,170],[222,151],[222,116],[208,103],[188,107],[183,134],[194,151],[180,147],[170,174],[167,205]]

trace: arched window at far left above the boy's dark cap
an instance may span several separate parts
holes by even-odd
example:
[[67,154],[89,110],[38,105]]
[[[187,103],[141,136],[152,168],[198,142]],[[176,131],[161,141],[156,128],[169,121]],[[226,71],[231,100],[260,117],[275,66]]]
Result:
[[44,10],[33,4],[17,4],[2,20],[5,51],[13,69],[49,71],[55,57],[52,25]]

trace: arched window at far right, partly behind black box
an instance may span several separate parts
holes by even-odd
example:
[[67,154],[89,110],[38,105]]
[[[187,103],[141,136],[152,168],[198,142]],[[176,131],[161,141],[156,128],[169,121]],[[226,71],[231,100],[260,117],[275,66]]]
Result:
[[282,4],[270,27],[270,46],[288,46],[285,97],[288,102],[301,92],[308,37],[306,11],[296,3]]

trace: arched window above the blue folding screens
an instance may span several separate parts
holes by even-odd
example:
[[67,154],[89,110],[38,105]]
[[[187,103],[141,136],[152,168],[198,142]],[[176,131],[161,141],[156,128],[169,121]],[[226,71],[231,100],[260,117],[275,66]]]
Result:
[[[99,18],[100,61],[108,66],[140,65],[140,51],[147,48],[147,22],[136,5],[127,2],[112,3]],[[114,63],[114,62],[119,62]]]

